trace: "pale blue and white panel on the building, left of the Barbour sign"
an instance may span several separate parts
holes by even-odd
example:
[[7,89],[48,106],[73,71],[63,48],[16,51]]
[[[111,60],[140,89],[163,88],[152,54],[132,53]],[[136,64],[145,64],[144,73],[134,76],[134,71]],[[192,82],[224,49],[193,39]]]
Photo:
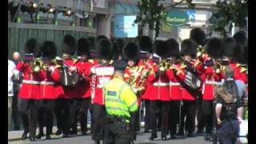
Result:
[[134,15],[115,15],[114,37],[135,38],[138,36],[138,24],[134,24]]

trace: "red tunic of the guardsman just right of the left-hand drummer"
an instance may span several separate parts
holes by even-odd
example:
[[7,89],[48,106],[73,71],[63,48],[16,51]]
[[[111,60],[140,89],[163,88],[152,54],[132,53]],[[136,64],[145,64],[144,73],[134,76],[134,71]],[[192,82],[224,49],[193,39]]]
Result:
[[76,86],[78,92],[76,98],[90,98],[90,68],[92,63],[89,61],[78,61],[75,66],[78,68],[79,76],[83,78],[83,80],[78,82],[78,85]]

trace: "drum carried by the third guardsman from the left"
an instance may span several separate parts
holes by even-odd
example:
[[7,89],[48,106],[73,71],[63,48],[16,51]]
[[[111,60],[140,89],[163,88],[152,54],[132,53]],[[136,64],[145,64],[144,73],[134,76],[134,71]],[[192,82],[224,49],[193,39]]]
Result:
[[63,66],[60,70],[60,83],[65,87],[74,87],[78,84],[79,75],[78,72],[72,71],[71,73],[68,71],[66,66]]

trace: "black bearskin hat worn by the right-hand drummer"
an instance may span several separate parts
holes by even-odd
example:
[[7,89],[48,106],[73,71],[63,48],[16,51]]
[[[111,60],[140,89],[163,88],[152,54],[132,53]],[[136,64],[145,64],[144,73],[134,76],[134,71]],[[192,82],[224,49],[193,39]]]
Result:
[[198,43],[194,39],[185,39],[182,41],[181,54],[195,56],[198,50]]

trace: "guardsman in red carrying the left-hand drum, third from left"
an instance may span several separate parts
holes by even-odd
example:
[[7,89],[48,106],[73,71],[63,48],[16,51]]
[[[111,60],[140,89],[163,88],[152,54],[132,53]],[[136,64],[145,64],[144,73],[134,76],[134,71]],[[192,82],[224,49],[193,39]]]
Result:
[[[65,66],[69,67],[69,71],[77,70],[74,66],[77,60],[71,58],[76,50],[76,41],[71,35],[65,35],[62,43],[62,60]],[[63,69],[62,69],[63,70]],[[55,114],[58,123],[58,131],[56,134],[62,134],[63,138],[67,138],[70,134],[70,108],[72,104],[72,99],[77,91],[74,87],[62,86],[64,90],[64,95],[59,95],[55,102]],[[60,128],[60,129],[59,129]]]

